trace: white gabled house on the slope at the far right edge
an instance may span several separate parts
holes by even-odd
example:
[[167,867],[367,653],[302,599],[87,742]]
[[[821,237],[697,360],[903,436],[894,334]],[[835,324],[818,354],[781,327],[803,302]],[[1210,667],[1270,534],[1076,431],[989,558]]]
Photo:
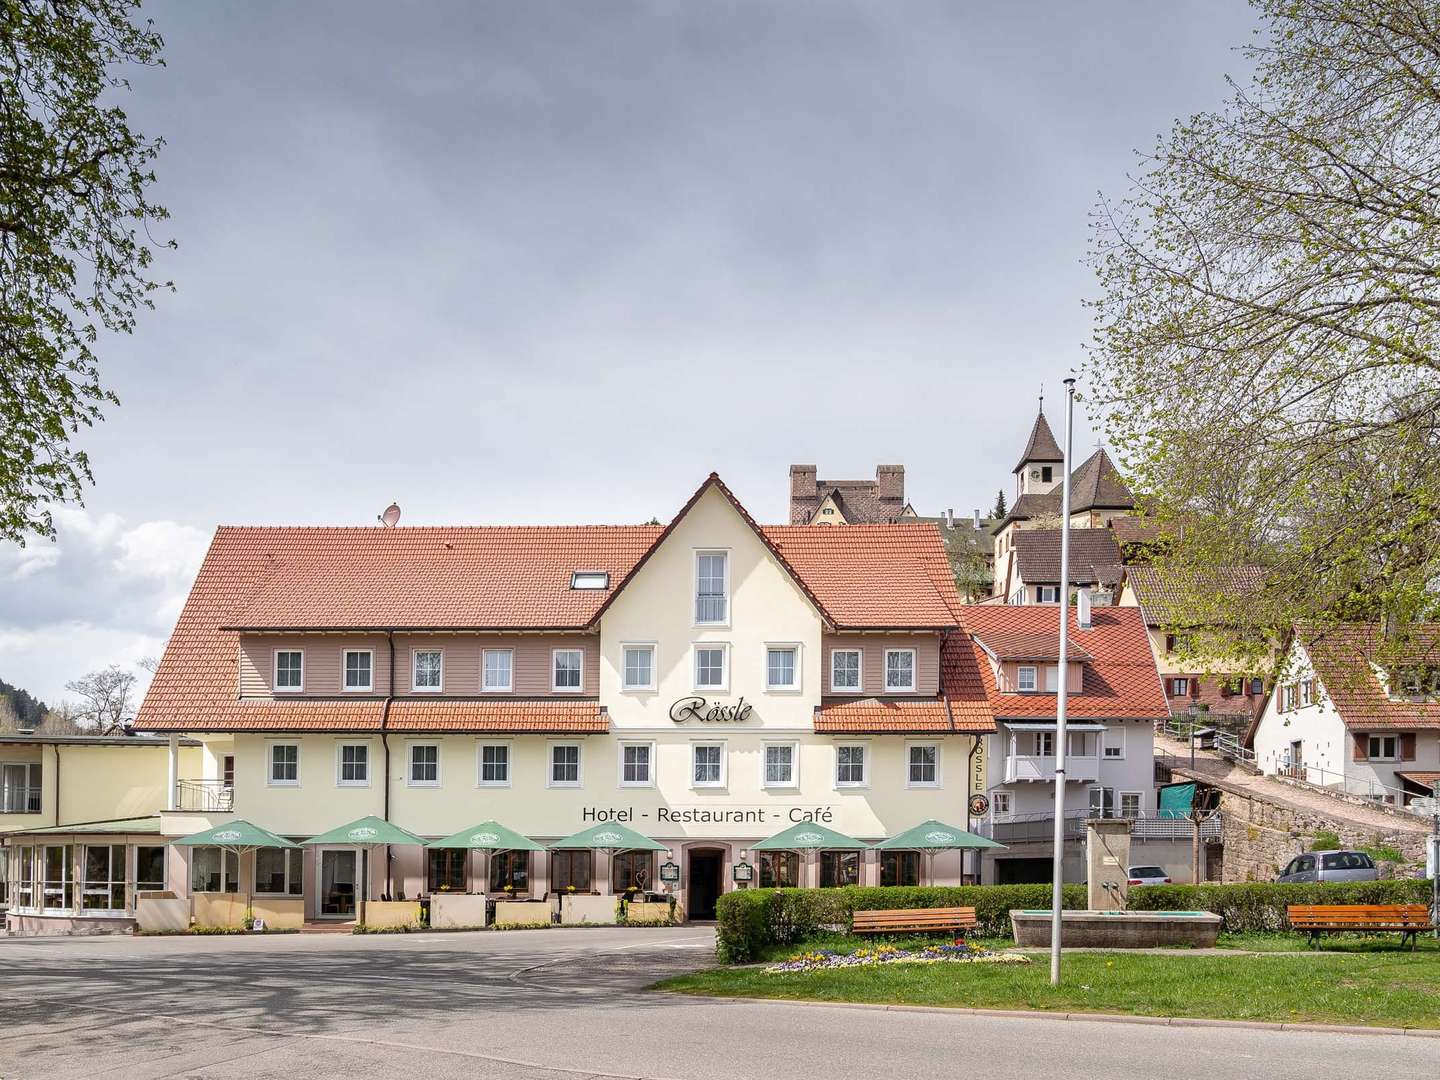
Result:
[[1296,628],[1246,733],[1270,775],[1407,805],[1440,782],[1440,624]]

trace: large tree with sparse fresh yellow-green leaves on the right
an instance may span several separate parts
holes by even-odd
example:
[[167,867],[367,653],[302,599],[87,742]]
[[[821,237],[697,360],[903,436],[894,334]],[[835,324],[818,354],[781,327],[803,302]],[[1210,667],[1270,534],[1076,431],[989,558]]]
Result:
[[1440,4],[1253,3],[1253,76],[1097,209],[1087,377],[1166,559],[1266,566],[1204,618],[1403,626],[1440,580]]

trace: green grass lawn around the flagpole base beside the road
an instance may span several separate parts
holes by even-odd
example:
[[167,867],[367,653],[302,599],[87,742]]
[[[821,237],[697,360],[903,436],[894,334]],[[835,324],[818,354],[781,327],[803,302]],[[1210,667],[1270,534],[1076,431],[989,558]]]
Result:
[[[782,959],[811,948],[848,950],[855,939],[791,946]],[[840,971],[769,973],[759,966],[724,968],[668,979],[657,989],[719,996],[861,1001],[886,1005],[1018,1008],[1061,1012],[1126,1012],[1277,1022],[1368,1024],[1440,1028],[1440,949],[1400,952],[1395,939],[1344,942],[1342,952],[1303,956],[1246,955],[1257,939],[1228,942],[1233,956],[1071,953],[1061,986],[1050,985],[1044,955],[1020,965],[887,965]],[[1266,952],[1303,949],[1299,937],[1274,936]],[[1259,950],[1259,949],[1256,949]]]

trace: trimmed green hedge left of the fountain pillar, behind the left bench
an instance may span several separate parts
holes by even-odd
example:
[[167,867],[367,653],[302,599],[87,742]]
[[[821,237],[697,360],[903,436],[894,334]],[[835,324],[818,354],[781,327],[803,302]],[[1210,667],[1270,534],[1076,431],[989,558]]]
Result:
[[[1084,886],[1066,886],[1066,907],[1084,907]],[[848,932],[851,913],[896,907],[973,907],[975,933],[1009,933],[1012,907],[1050,907],[1050,886],[950,886],[884,888],[742,888],[716,904],[716,956],[746,963],[775,945],[793,945],[818,930]]]

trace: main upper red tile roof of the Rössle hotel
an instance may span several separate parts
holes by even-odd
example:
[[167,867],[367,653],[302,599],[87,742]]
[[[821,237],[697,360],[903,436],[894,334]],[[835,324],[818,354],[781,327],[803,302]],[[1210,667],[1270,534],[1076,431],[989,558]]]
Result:
[[[933,524],[762,528],[713,474],[687,508],[710,485],[719,485],[834,626],[958,625],[960,598]],[[243,730],[268,726],[269,710],[281,710],[275,723],[294,717],[285,723],[314,730],[377,726],[374,701],[240,701],[238,631],[593,629],[608,598],[664,531],[658,526],[222,527],[135,726]],[[572,589],[573,570],[606,570],[611,589]],[[478,708],[446,716],[452,717],[446,723],[477,724],[467,730],[495,730],[487,727],[497,721],[494,714]],[[572,721],[546,716],[534,723]],[[392,719],[397,720],[395,710]]]

